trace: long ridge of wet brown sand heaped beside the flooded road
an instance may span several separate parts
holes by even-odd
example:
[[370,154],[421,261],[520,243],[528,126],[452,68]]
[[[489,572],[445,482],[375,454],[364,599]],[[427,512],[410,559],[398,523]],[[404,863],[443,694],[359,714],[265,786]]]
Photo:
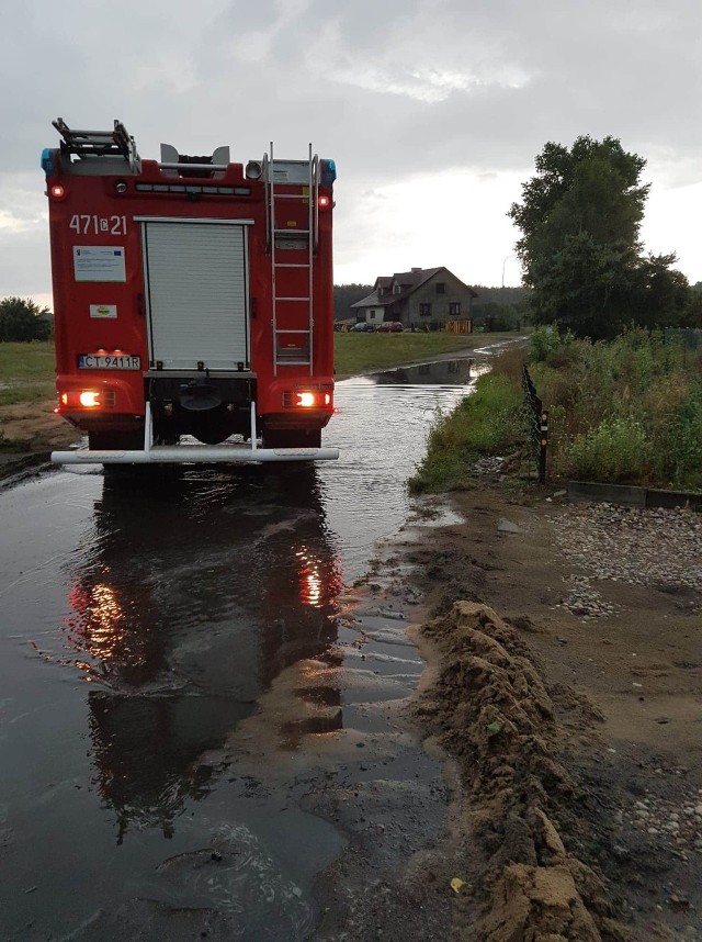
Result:
[[[469,873],[465,938],[489,942],[624,940],[602,878],[567,850],[577,827],[554,706],[517,631],[489,607],[456,602],[422,626],[441,653],[418,705],[458,760]],[[468,906],[468,899],[471,905]]]

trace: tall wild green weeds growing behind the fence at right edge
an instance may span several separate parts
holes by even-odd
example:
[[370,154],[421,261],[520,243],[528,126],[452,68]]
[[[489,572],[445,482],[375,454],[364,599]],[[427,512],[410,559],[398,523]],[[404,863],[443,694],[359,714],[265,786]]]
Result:
[[702,351],[643,329],[609,344],[534,338],[555,474],[702,490]]

